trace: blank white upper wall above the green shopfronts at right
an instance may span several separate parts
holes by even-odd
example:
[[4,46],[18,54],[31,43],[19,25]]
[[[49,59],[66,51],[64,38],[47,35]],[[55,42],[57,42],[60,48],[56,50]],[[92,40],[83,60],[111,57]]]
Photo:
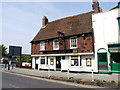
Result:
[[92,15],[95,43],[101,47],[105,44],[118,43],[118,9]]

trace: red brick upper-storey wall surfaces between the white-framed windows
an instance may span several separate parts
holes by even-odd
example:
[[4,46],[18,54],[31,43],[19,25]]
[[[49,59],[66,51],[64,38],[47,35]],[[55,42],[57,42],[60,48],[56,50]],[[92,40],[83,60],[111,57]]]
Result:
[[[70,39],[66,39],[66,49],[70,49]],[[59,49],[63,50],[64,43],[59,45]],[[77,38],[77,48],[78,52],[93,52],[93,39],[92,36],[86,36],[85,38]],[[53,40],[45,42],[45,50],[53,50]],[[32,54],[39,54],[40,44],[32,44]]]

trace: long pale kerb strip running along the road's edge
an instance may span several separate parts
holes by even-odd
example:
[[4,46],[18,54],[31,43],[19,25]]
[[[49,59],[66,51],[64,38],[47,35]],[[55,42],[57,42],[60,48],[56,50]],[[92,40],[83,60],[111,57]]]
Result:
[[46,78],[40,78],[40,77],[35,77],[35,76],[29,76],[25,74],[20,74],[20,73],[14,73],[14,72],[7,72],[7,71],[2,71],[4,73],[9,73],[9,74],[14,74],[18,76],[24,76],[28,78],[33,78],[37,80],[42,80],[42,81],[47,81],[47,82],[53,82],[53,83],[59,83],[59,84],[64,84],[64,85],[70,85],[70,86],[75,86],[75,87],[82,87],[82,88],[105,88],[105,87],[98,87],[98,86],[90,86],[90,85],[82,85],[82,84],[76,84],[76,83],[70,83],[70,82],[65,82],[65,81],[57,81],[57,80],[51,80],[51,79],[46,79]]

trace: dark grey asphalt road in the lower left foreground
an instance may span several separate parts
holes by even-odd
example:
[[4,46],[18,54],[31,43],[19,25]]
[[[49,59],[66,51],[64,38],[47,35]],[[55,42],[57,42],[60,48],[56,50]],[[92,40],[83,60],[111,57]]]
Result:
[[3,72],[2,88],[80,88],[80,87]]

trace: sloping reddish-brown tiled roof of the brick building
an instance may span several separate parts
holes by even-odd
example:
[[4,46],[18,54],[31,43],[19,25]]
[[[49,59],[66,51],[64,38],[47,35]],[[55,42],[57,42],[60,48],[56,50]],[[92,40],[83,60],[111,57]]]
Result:
[[52,39],[58,37],[58,32],[65,36],[71,36],[92,31],[92,13],[87,12],[49,22],[46,27],[41,28],[31,42]]

